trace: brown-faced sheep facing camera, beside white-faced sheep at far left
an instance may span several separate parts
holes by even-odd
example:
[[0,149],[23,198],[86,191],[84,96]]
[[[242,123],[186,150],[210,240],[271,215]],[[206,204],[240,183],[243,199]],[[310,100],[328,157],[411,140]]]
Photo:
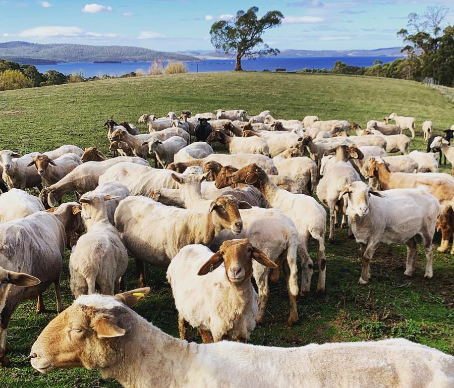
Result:
[[37,155],[27,167],[36,168],[44,186],[47,187],[63,179],[80,164],[82,164],[80,157],[71,152],[53,160],[44,154]]

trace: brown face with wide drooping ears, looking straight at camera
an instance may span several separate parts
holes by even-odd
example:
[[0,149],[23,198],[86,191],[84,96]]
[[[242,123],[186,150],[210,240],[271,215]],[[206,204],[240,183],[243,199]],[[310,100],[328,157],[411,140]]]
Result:
[[277,265],[260,249],[252,246],[248,239],[237,239],[224,241],[219,250],[202,265],[198,274],[206,275],[223,262],[229,281],[239,284],[251,277],[252,260],[268,268],[277,268]]

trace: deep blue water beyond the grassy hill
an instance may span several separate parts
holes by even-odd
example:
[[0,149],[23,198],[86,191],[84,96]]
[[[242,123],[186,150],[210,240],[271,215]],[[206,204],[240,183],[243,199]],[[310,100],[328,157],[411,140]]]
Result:
[[[274,71],[277,68],[287,71],[308,69],[332,69],[336,61],[342,61],[352,66],[372,66],[375,60],[383,63],[392,62],[398,57],[305,57],[305,58],[259,58],[256,60],[243,60],[243,70],[249,71]],[[56,65],[37,65],[39,72],[57,70],[63,74],[80,73],[85,77],[107,74],[109,76],[121,76],[123,74],[137,72],[141,69],[147,73],[152,65],[151,62],[122,62],[122,63],[89,63],[71,62]],[[165,63],[164,63],[165,65]],[[204,60],[200,62],[186,62],[190,73],[231,71],[235,68],[235,61],[230,59]]]

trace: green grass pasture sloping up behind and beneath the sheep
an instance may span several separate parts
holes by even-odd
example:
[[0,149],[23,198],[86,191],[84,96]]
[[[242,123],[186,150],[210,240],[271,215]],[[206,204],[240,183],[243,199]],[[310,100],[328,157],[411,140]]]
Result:
[[[251,114],[269,109],[276,118],[302,119],[318,115],[345,119],[365,126],[391,112],[417,118],[412,149],[425,150],[421,123],[434,122],[436,133],[453,123],[454,105],[437,91],[403,80],[311,74],[207,73],[140,77],[0,92],[8,106],[0,110],[0,148],[19,152],[46,151],[62,144],[97,146],[107,152],[104,121],[135,123],[143,113],[165,115],[169,110],[193,113],[219,107],[244,108]],[[142,127],[142,132],[146,128]],[[408,134],[408,133],[407,133]],[[450,166],[442,171],[450,172]],[[298,210],[298,209],[296,209]],[[157,233],[159,233],[157,228]],[[412,279],[404,276],[405,246],[381,246],[372,263],[368,285],[358,286],[361,264],[358,247],[344,231],[326,244],[326,291],[300,297],[300,321],[286,326],[288,300],[282,279],[271,285],[265,322],[257,326],[251,343],[301,346],[333,341],[378,340],[405,337],[454,354],[454,260],[434,255],[434,276],[424,280],[424,263],[418,262]],[[436,235],[435,243],[439,244]],[[315,257],[314,246],[310,252]],[[424,257],[419,250],[418,257]],[[68,283],[68,256],[62,274],[64,303],[72,303]],[[315,271],[316,279],[318,272]],[[147,266],[150,296],[135,310],[173,336],[178,335],[177,313],[165,270]],[[127,287],[135,287],[131,260]],[[316,281],[313,282],[313,289]],[[52,290],[46,307],[55,309]],[[42,328],[55,312],[36,315],[33,301],[24,302],[10,324],[11,365],[0,369],[0,388],[118,387],[96,371],[59,370],[48,375],[34,372],[26,356]],[[195,341],[200,339],[192,331]],[[146,360],[144,360],[146,362]]]

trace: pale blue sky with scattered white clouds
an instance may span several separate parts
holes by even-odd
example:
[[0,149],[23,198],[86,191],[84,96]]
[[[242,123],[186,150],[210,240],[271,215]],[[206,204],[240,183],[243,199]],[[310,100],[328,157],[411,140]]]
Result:
[[209,29],[239,9],[280,10],[282,25],[264,40],[279,49],[373,49],[402,45],[407,15],[454,0],[0,0],[0,41],[120,44],[177,51],[211,49]]

